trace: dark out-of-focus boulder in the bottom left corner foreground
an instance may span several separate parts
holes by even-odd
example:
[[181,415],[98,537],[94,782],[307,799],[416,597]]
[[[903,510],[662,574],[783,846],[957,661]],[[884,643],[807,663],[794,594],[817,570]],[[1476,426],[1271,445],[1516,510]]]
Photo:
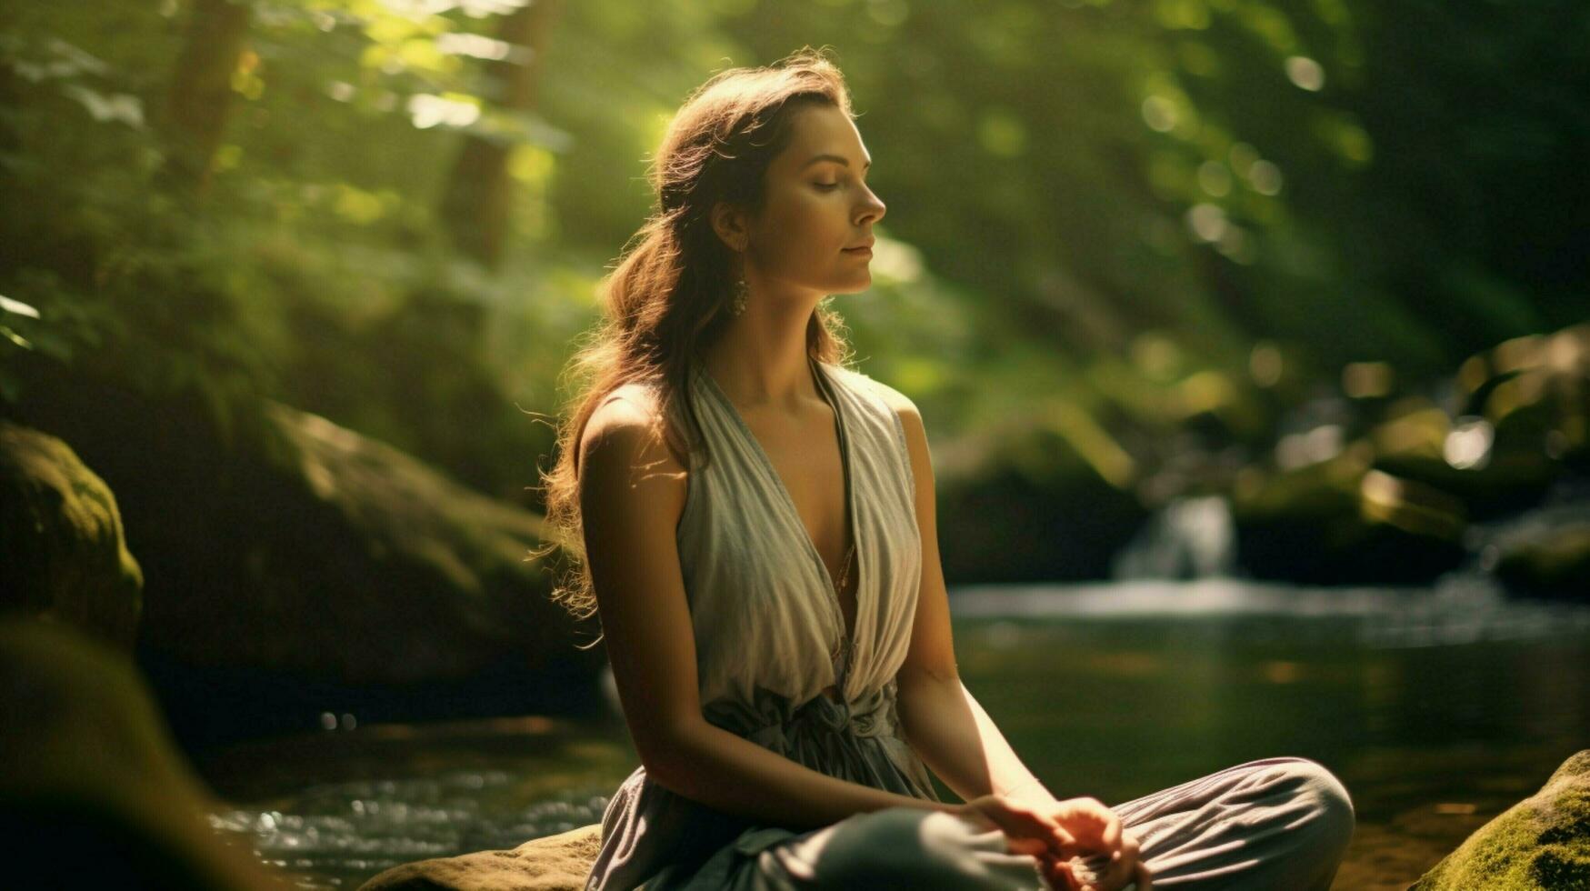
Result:
[[0,619],[0,851],[8,888],[294,888],[178,753],[126,654],[60,624]]

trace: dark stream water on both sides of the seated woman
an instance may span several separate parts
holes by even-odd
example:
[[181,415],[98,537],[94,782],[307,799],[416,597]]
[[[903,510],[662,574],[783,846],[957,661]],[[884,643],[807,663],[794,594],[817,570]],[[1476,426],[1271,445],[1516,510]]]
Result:
[[[1404,888],[1590,748],[1590,606],[1510,601],[1479,579],[952,597],[967,689],[1054,794],[1116,803],[1243,761],[1312,757],[1358,810],[1337,888]],[[638,764],[617,718],[328,726],[199,757],[229,802],[215,829],[305,888],[598,823]]]

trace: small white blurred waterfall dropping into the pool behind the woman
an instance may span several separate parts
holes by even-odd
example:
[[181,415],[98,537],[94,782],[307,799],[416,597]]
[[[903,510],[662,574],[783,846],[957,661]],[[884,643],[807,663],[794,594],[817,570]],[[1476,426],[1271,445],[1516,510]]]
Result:
[[1150,517],[1111,562],[1115,579],[1231,578],[1237,533],[1221,495],[1178,498]]

